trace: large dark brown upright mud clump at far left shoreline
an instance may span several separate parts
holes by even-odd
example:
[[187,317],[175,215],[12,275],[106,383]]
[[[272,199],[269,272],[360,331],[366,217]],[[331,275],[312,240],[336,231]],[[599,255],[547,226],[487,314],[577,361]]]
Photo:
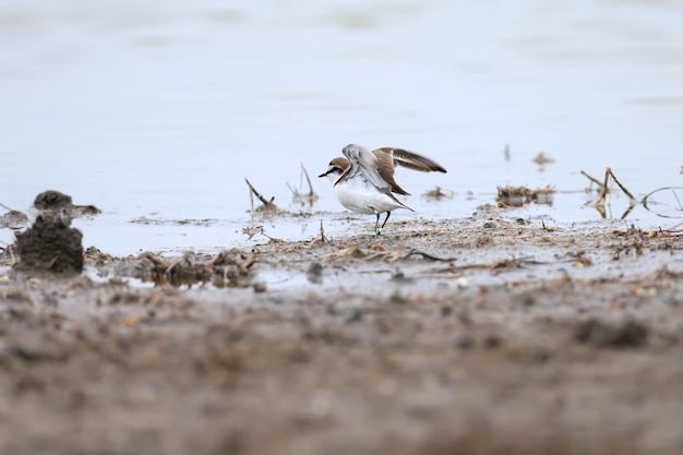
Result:
[[39,216],[31,228],[16,235],[21,258],[14,270],[79,274],[83,270],[83,235],[60,217]]

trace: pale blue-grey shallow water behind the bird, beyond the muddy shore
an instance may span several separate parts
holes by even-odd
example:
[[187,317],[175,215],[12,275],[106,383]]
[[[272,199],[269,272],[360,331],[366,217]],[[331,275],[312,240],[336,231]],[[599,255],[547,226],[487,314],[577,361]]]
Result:
[[[513,216],[600,219],[580,170],[601,179],[610,166],[638,197],[683,184],[681,13],[647,1],[5,0],[0,202],[25,209],[57,189],[94,204],[104,214],[76,226],[115,254],[266,239],[243,235],[249,225],[285,239],[315,236],[321,220],[356,234],[372,217],[345,212],[327,181],[314,181],[311,208],[287,182],[357,142],[448,169],[400,172],[418,214],[395,220],[469,216],[503,184],[559,190]],[[554,163],[540,169],[539,152]],[[253,219],[244,177],[313,214]],[[435,185],[454,197],[419,196]],[[625,197],[612,202],[621,217]],[[141,217],[153,223],[131,223]],[[626,223],[676,220],[638,206]]]

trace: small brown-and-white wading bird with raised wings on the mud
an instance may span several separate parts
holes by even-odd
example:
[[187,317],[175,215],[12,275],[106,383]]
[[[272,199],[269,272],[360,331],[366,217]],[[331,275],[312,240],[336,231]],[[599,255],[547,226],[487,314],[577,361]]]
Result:
[[327,177],[333,183],[337,199],[349,211],[375,214],[374,232],[380,234],[380,214],[386,212],[382,229],[395,208],[407,208],[393,193],[409,195],[394,180],[394,168],[403,166],[422,172],[446,169],[435,161],[402,148],[383,147],[369,152],[357,144],[342,151],[345,157],[329,161],[329,167],[317,177]]

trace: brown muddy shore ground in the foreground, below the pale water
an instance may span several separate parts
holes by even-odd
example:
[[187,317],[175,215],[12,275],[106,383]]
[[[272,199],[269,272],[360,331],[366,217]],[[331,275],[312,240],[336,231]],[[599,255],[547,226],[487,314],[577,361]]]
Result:
[[0,453],[683,453],[683,237],[615,226],[5,251]]

